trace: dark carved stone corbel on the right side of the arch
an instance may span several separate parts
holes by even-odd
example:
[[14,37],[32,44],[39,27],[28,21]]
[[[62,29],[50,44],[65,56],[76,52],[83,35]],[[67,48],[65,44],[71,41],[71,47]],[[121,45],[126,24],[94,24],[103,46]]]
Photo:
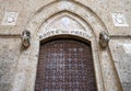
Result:
[[102,48],[106,48],[109,43],[109,35],[106,32],[99,33],[99,45]]

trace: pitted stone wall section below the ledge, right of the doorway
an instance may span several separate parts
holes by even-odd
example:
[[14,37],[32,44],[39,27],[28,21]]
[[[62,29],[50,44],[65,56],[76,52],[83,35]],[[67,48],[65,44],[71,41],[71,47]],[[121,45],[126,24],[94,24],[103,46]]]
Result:
[[[131,44],[131,39],[111,39],[110,52],[115,61],[117,72],[120,77],[124,91],[131,89],[131,53],[127,53],[124,45]],[[129,47],[130,49],[131,47]]]

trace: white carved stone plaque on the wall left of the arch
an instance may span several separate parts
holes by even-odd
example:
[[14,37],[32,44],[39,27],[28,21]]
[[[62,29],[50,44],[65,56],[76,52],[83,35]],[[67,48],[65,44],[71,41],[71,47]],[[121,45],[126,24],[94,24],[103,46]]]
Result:
[[1,25],[15,25],[19,12],[5,12]]

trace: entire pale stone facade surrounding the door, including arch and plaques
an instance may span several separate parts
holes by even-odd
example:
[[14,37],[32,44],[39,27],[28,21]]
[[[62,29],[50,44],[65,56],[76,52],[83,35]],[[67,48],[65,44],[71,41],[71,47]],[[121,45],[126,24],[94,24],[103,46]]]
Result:
[[[130,0],[0,0],[0,90],[34,91],[39,44],[59,36],[91,43],[98,91],[130,91]],[[104,49],[100,32],[110,36]]]

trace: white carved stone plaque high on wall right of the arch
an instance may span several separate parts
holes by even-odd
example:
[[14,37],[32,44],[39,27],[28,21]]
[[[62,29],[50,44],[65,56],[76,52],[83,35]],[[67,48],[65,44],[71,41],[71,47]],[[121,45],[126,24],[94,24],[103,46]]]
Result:
[[129,26],[122,12],[111,13],[115,26]]

